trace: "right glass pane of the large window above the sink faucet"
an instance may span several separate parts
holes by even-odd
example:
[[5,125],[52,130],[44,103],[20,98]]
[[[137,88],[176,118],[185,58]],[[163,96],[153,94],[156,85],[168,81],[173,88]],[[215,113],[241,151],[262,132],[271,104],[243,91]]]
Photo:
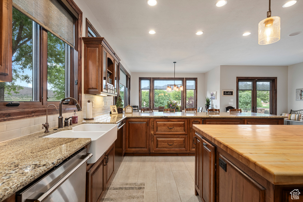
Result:
[[[47,34],[47,97],[48,101],[60,101],[65,93],[66,44],[51,32]],[[68,46],[69,47],[69,46]],[[68,63],[67,63],[68,64]]]

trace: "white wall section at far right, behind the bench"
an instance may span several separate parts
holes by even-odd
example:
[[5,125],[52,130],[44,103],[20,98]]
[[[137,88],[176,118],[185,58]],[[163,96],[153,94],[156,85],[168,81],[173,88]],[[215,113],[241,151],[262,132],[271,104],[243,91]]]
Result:
[[[296,89],[303,88],[303,62],[288,66],[288,110],[303,109],[303,101],[296,101]],[[285,111],[286,112],[286,111]]]

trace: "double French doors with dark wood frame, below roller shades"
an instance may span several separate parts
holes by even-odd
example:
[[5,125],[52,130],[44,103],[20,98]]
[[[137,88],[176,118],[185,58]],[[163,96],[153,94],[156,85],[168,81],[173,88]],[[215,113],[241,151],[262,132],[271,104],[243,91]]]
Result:
[[277,77],[237,77],[237,108],[277,114]]

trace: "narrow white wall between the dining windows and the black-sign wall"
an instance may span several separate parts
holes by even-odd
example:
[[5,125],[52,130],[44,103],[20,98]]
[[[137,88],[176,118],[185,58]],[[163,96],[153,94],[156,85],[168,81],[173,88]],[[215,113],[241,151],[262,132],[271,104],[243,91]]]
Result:
[[215,109],[220,109],[220,66],[205,73],[205,96],[202,102],[203,110],[205,110],[205,97],[210,97],[210,93],[215,91],[217,91],[217,99],[211,100],[211,106],[214,105]]

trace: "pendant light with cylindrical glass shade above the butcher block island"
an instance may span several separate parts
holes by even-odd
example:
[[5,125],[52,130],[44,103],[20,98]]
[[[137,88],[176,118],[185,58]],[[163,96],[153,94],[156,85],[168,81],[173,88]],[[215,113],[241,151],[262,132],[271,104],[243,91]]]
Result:
[[267,18],[259,22],[258,43],[267,45],[280,40],[280,17],[271,17],[270,0]]

